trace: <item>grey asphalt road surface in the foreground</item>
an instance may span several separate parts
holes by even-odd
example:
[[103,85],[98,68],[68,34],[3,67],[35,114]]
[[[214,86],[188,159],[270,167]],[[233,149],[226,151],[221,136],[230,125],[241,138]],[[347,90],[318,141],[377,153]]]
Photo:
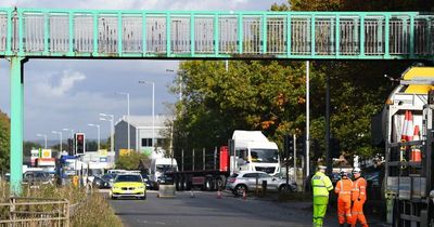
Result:
[[[234,198],[216,192],[177,192],[176,198],[157,198],[148,191],[146,200],[111,200],[125,226],[186,226],[186,227],[279,227],[311,226],[311,209],[308,202],[278,203],[254,198]],[[326,226],[336,226],[329,218]]]

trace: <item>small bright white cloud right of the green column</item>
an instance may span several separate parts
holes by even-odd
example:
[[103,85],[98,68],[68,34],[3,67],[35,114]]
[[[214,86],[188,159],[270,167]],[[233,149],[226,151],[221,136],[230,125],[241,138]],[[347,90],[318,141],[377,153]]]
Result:
[[85,80],[86,76],[79,71],[64,70],[59,85],[52,85],[48,81],[36,85],[37,92],[43,96],[63,96],[66,92],[74,88],[78,81]]

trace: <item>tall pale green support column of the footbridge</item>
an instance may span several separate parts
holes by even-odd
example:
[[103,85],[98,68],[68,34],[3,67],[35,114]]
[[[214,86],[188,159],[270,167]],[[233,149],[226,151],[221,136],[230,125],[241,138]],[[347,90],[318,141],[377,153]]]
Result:
[[11,57],[11,193],[22,192],[24,134],[24,63],[25,57]]

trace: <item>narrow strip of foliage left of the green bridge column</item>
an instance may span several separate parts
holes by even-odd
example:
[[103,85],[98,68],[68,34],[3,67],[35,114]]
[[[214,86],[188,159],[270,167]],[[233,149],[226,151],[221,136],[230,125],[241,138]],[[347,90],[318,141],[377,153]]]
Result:
[[0,110],[0,172],[9,170],[11,120]]

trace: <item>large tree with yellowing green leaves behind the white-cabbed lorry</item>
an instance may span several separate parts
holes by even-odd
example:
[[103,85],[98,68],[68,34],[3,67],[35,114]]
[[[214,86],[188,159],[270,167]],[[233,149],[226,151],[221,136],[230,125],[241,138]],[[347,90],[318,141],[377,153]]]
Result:
[[[176,147],[224,145],[237,129],[260,130],[280,143],[302,131],[304,65],[277,61],[183,62],[182,115],[175,121]],[[315,72],[312,72],[315,75]]]

